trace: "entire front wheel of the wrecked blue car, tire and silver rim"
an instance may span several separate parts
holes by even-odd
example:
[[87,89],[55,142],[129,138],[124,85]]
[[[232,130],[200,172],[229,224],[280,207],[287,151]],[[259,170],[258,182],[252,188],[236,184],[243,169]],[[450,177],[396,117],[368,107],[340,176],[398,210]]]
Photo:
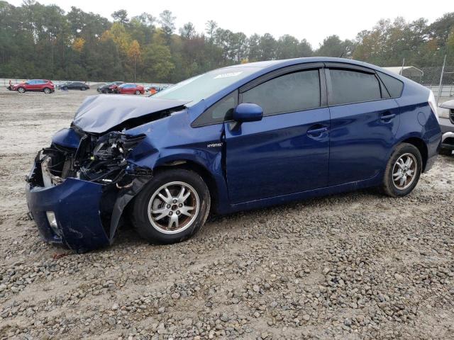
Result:
[[199,174],[186,169],[162,171],[135,197],[131,220],[149,242],[181,242],[204,225],[210,200]]

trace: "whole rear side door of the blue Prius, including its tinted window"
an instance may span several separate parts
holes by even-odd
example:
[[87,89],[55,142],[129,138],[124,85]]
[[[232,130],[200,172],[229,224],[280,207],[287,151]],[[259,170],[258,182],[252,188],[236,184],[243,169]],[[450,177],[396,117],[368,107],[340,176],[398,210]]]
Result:
[[387,162],[399,106],[372,69],[326,64],[331,113],[329,185],[371,179]]

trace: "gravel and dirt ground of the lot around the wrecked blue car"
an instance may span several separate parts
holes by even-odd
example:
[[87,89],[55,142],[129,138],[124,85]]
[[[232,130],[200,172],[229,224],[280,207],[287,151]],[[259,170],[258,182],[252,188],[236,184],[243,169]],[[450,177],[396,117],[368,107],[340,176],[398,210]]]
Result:
[[44,244],[23,177],[94,93],[0,90],[0,339],[454,339],[454,157],[406,198],[211,217],[172,246]]

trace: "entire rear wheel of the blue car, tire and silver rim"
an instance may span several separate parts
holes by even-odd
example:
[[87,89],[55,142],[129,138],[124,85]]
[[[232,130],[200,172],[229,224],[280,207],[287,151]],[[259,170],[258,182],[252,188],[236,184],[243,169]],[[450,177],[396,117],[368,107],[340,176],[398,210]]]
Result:
[[382,189],[387,196],[406,196],[419,181],[422,171],[422,157],[414,145],[398,145],[386,166]]

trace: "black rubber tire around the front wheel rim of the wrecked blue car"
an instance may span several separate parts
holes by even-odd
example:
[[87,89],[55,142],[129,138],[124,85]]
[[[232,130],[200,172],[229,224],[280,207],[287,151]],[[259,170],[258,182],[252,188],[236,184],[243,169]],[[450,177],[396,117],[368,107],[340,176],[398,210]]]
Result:
[[[157,229],[157,227],[153,226],[149,217],[148,210],[150,205],[153,204],[150,203],[150,200],[154,195],[157,194],[158,189],[162,188],[162,186],[166,186],[169,183],[175,182],[184,183],[185,185],[189,185],[192,189],[194,189],[199,200],[199,209],[196,213],[194,213],[192,217],[184,217],[184,215],[179,215],[179,217],[182,217],[182,220],[189,219],[189,221],[186,225],[183,225],[181,227],[181,232],[175,230],[171,231],[174,232],[173,234],[167,234],[165,232],[161,232],[159,229]],[[172,190],[171,187],[170,190]],[[192,200],[192,203],[189,203],[189,205],[194,205],[194,198],[195,196],[189,196],[188,199]],[[155,199],[153,199],[153,201],[155,201]],[[167,203],[162,200],[163,206],[159,206],[157,209],[166,208],[166,204]],[[175,201],[170,205],[172,204],[177,206],[175,204]],[[170,207],[170,205],[167,205],[167,208]],[[192,237],[192,235],[194,235],[204,225],[206,217],[208,217],[209,214],[210,205],[211,198],[208,187],[206,186],[204,180],[201,179],[199,174],[186,169],[170,169],[158,172],[155,177],[146,184],[145,188],[140,191],[138,196],[134,198],[133,206],[131,209],[131,221],[133,222],[133,225],[135,229],[137,229],[137,232],[140,234],[140,236],[143,237],[143,239],[146,239],[148,242],[157,244],[172,244],[175,242],[182,242],[185,239]],[[172,209],[174,209],[173,205],[172,208],[169,209],[169,211]],[[153,214],[150,213],[150,215]],[[179,217],[177,217],[177,219]],[[162,224],[167,224],[166,221],[169,220],[170,217],[165,215],[165,217],[162,217]],[[155,221],[155,223],[157,222]]]

